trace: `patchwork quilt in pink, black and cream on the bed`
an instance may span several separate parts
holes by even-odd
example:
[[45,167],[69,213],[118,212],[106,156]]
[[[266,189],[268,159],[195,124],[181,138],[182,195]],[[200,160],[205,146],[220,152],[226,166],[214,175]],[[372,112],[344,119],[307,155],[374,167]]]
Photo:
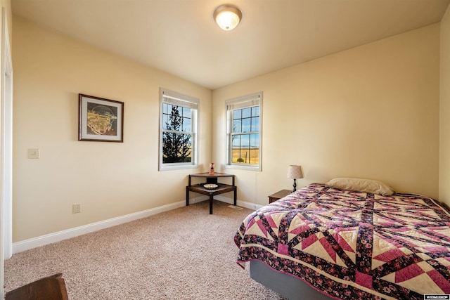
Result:
[[257,259],[338,299],[450,294],[450,214],[412,194],[311,184],[250,214],[238,263]]

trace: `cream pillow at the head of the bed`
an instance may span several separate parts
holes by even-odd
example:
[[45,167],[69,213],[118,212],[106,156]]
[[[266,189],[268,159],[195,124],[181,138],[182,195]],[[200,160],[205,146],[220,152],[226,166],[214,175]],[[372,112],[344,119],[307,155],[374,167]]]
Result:
[[383,196],[395,194],[395,191],[389,185],[372,179],[334,178],[325,184],[330,188],[339,188],[340,190],[355,190],[356,192],[373,193]]

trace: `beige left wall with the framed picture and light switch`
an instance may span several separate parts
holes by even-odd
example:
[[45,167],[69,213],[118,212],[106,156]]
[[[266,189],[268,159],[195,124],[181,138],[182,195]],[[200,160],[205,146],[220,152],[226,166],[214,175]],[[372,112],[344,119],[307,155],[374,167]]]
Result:
[[[13,242],[185,199],[211,159],[209,89],[18,17],[13,37]],[[199,169],[158,171],[160,87],[200,99]],[[124,102],[124,143],[77,141],[78,93]]]

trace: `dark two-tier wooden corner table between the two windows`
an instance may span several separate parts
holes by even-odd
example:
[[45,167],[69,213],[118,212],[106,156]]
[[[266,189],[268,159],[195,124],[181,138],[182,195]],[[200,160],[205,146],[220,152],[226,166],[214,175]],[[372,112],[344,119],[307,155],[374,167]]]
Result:
[[[203,185],[205,183],[198,183],[198,184],[192,185],[191,184],[192,177],[206,178],[205,183],[217,184],[218,186],[217,186],[217,188],[214,188],[214,190],[209,190],[209,189],[203,187]],[[229,184],[217,182],[217,178],[221,178],[221,177],[231,177],[232,184],[229,185]],[[212,200],[215,195],[228,193],[228,192],[234,192],[234,205],[236,206],[237,188],[236,188],[236,185],[234,185],[234,175],[233,174],[224,174],[224,173],[214,173],[214,175],[210,175],[209,173],[191,174],[191,175],[189,175],[188,186],[186,186],[186,207],[189,205],[189,192],[194,192],[194,193],[199,193],[202,195],[210,196],[210,214],[212,214]]]

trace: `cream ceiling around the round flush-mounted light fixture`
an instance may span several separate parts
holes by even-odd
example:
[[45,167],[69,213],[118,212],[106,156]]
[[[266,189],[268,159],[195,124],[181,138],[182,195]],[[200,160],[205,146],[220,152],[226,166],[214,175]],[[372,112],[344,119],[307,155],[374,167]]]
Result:
[[[439,22],[450,0],[12,0],[13,15],[209,89]],[[235,4],[225,32],[212,19]]]

